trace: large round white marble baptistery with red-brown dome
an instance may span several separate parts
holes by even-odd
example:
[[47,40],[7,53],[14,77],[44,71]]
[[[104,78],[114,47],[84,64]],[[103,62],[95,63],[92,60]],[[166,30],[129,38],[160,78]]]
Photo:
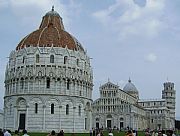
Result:
[[52,8],[9,55],[4,127],[85,132],[92,127],[92,89],[90,58]]

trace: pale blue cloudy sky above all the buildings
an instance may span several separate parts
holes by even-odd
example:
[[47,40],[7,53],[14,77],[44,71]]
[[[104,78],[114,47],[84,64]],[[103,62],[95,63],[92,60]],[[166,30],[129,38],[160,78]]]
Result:
[[170,81],[180,119],[180,0],[0,0],[1,109],[7,57],[52,5],[92,58],[93,100],[108,78],[123,88],[130,77],[140,99],[161,98]]

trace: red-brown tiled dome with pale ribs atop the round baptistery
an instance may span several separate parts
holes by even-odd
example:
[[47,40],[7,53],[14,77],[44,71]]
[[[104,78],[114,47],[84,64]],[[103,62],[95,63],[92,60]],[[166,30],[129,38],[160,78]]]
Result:
[[16,47],[16,50],[30,46],[62,47],[84,52],[78,40],[65,31],[62,18],[54,11],[54,7],[45,14],[39,29],[24,37]]

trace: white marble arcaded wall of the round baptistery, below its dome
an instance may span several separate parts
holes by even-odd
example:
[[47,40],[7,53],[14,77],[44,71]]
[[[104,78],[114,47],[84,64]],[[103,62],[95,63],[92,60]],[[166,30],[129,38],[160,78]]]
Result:
[[[51,55],[54,63],[50,63]],[[26,114],[29,131],[84,132],[92,127],[93,74],[85,52],[53,47],[12,51],[5,75],[5,128],[18,129],[20,113]],[[50,87],[47,87],[49,79]],[[35,103],[38,113],[35,113]],[[54,104],[54,114],[51,114],[51,104]],[[66,115],[67,104],[69,115]]]

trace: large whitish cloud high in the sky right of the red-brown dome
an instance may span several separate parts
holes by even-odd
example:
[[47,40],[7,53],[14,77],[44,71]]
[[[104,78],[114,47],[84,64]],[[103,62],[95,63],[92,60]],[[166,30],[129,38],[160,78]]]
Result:
[[153,38],[164,27],[164,7],[165,0],[147,0],[144,6],[139,6],[133,0],[116,0],[113,5],[92,16],[110,31],[118,32],[121,39],[129,36]]

